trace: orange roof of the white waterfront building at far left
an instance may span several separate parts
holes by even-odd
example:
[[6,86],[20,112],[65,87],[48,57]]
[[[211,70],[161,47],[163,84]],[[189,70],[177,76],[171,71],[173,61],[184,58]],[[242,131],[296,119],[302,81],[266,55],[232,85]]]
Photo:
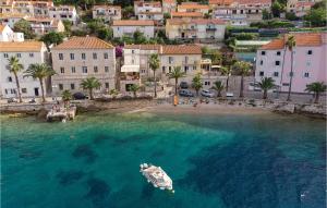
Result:
[[40,51],[45,47],[41,41],[0,41],[1,52],[32,52]]

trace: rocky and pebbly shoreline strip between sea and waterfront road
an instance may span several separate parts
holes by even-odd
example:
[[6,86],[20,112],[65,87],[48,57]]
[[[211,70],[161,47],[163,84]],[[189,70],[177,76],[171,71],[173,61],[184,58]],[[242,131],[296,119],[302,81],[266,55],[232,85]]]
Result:
[[[161,105],[171,105],[170,99],[156,100],[150,98],[141,99],[111,99],[111,100],[84,100],[72,101],[77,107],[77,113],[85,112],[99,112],[99,111],[112,111],[112,112],[129,112],[147,107],[160,108]],[[267,110],[275,113],[283,114],[302,114],[310,118],[318,118],[326,120],[327,107],[326,105],[316,103],[295,103],[277,100],[261,100],[261,99],[211,99],[208,102],[203,102],[203,106],[219,106],[223,107],[238,107],[246,109]],[[53,103],[44,105],[5,105],[0,107],[2,114],[21,113],[26,115],[36,115],[43,119],[46,112],[51,109]],[[187,106],[187,105],[181,105]],[[189,105],[192,106],[192,105]]]

